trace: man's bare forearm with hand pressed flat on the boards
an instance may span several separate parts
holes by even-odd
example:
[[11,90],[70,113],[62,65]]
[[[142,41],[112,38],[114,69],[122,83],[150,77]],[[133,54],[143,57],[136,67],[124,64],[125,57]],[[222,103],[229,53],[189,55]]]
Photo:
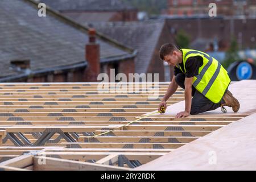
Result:
[[176,118],[184,118],[190,114],[192,102],[192,81],[193,77],[185,78],[185,111],[177,113]]

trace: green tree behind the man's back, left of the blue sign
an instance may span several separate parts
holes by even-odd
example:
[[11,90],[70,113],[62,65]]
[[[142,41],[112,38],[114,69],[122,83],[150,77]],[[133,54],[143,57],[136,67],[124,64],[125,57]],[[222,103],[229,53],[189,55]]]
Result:
[[238,43],[236,38],[233,36],[231,39],[230,47],[228,51],[226,51],[225,59],[222,62],[222,66],[227,69],[230,64],[238,60],[239,60]]

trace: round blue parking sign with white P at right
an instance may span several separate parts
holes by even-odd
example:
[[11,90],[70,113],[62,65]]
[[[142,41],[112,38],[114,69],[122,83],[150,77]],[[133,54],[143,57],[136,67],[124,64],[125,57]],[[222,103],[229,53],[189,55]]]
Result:
[[251,68],[249,63],[243,61],[242,63],[238,64],[236,75],[238,80],[250,79],[253,75],[253,68]]

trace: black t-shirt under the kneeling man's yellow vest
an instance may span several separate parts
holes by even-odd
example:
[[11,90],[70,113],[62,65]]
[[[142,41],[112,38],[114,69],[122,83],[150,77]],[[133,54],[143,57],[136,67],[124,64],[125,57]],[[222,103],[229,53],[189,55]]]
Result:
[[[179,64],[181,69],[184,71],[183,61]],[[191,78],[193,76],[199,75],[199,67],[203,65],[203,58],[201,56],[189,57],[185,63],[186,73],[185,76],[187,78]],[[176,76],[178,73],[182,73],[182,71],[174,67],[174,75]]]

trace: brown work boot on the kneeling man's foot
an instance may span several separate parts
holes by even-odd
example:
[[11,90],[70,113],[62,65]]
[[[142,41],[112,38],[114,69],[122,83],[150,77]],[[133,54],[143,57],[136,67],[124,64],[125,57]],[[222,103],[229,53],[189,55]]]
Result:
[[[229,90],[226,91],[226,93],[224,94],[223,100],[225,101],[225,104],[221,104],[221,110],[226,110],[225,107],[223,106],[229,106],[232,107],[233,111],[236,113],[239,108],[240,108],[240,103],[238,102],[238,100],[236,98],[233,97],[232,93],[229,92]],[[222,112],[226,112],[223,111]]]

